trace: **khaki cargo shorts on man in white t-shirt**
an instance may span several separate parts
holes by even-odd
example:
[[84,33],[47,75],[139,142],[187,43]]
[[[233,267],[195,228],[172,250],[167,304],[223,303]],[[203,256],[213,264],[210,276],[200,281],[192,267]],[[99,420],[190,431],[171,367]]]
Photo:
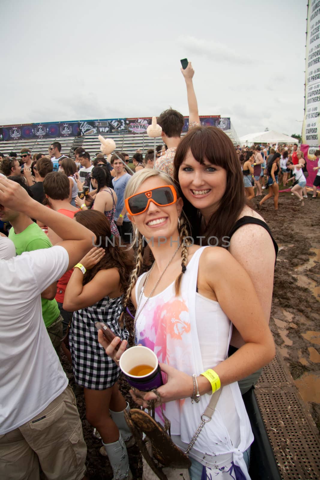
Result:
[[[47,408],[0,435],[0,479],[81,480],[87,447],[75,396],[68,386]],[[41,478],[43,478],[43,474]]]

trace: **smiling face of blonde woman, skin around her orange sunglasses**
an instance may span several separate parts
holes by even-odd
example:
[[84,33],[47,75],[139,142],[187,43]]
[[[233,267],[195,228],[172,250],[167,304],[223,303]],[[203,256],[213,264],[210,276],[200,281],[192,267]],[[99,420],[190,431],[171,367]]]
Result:
[[[167,184],[166,180],[154,176],[143,181],[134,193],[145,192]],[[175,204],[167,206],[157,205],[151,201],[145,212],[134,216],[128,214],[128,217],[146,239],[174,237],[178,234],[178,217],[181,214],[182,204],[181,198],[178,198]]]

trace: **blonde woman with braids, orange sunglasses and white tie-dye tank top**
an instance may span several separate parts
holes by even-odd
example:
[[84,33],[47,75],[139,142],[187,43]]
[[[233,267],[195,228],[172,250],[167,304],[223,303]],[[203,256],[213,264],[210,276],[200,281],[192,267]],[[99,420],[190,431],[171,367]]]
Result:
[[[131,297],[137,309],[136,343],[154,350],[167,375],[167,383],[158,393],[171,421],[172,439],[185,450],[198,428],[210,400],[205,394],[213,392],[212,384],[201,373],[211,369],[216,375],[215,386],[220,388],[221,384],[221,395],[213,421],[203,427],[190,451],[191,479],[200,480],[205,474],[224,480],[235,476],[249,479],[248,450],[253,436],[237,380],[274,356],[273,338],[252,282],[224,248],[193,244],[182,199],[164,172],[138,172],[129,180],[125,198],[139,246],[124,302]],[[149,272],[138,278],[143,237],[155,261]],[[231,322],[245,344],[227,358]],[[98,336],[106,353],[119,362],[127,342],[116,351],[120,338],[108,343],[101,330]],[[199,403],[190,398],[194,397],[194,378]],[[147,400],[157,399],[153,392],[130,393],[143,408]]]

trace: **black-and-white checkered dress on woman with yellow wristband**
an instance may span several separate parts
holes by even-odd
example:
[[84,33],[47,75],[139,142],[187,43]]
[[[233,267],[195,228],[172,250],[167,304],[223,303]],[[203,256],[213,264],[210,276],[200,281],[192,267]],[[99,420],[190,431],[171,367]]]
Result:
[[105,297],[92,307],[74,312],[69,334],[72,368],[78,385],[91,390],[105,390],[118,380],[120,369],[98,343],[95,322],[104,322],[121,340],[127,340],[128,330],[118,324],[122,312],[122,296]]

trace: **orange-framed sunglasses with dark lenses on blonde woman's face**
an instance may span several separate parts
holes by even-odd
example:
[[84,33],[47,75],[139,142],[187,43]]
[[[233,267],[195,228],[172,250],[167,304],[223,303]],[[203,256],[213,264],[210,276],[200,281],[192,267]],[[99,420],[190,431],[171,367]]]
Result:
[[177,192],[175,188],[172,185],[165,185],[131,195],[125,199],[125,204],[129,215],[139,215],[147,210],[150,202],[160,206],[168,206],[176,203],[176,201]]

